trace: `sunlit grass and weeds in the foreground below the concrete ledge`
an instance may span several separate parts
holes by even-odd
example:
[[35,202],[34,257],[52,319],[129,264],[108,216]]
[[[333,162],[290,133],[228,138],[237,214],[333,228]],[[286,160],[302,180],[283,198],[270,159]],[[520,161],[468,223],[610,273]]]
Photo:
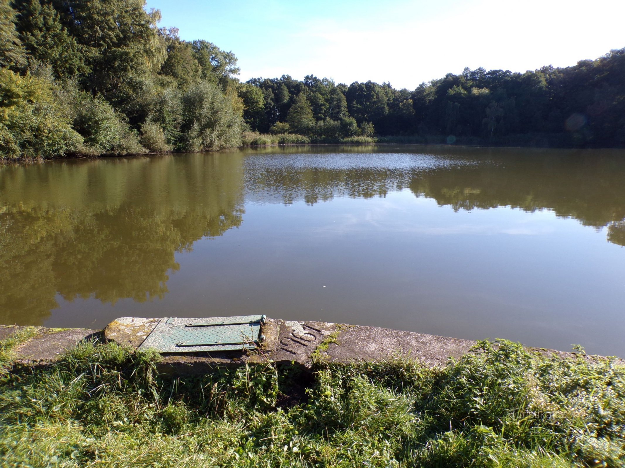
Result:
[[[91,341],[0,379],[7,467],[617,467],[625,368],[480,342],[414,361],[273,364],[172,378]],[[306,396],[284,395],[306,382]]]

